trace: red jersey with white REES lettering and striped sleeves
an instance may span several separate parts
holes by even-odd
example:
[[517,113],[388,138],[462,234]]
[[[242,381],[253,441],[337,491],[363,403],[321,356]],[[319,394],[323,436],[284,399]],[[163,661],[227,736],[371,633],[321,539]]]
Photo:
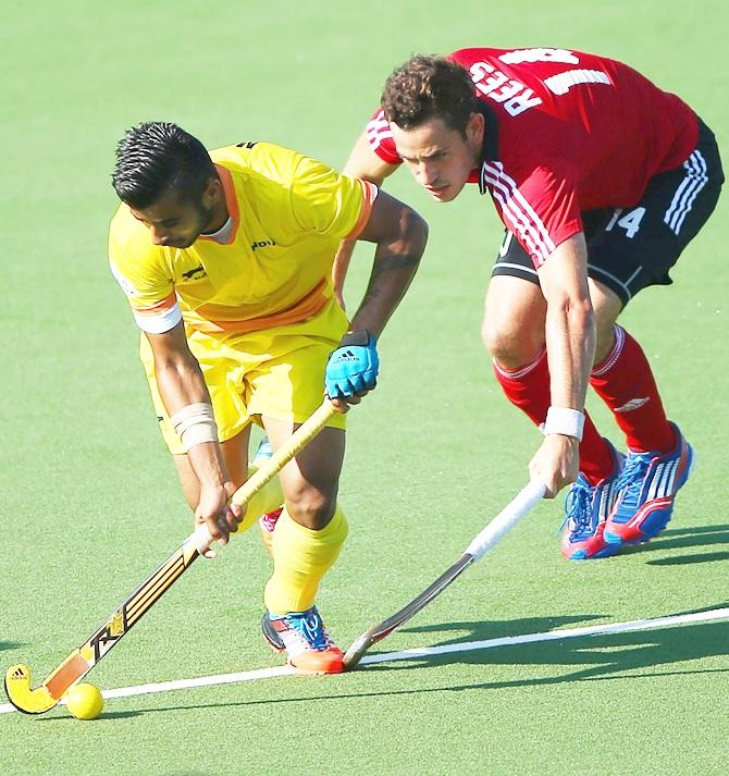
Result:
[[[629,208],[657,173],[696,146],[695,113],[621,62],[567,49],[460,49],[485,114],[470,182],[489,192],[507,229],[540,267],[582,231],[582,210]],[[382,110],[367,134],[401,162]]]

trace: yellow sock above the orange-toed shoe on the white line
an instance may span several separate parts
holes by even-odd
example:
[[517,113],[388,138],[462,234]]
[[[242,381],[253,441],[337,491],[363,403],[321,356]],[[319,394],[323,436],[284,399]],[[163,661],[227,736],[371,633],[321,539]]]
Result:
[[347,531],[347,518],[338,506],[321,531],[299,526],[284,507],[273,532],[273,576],[265,586],[265,608],[285,614],[313,606],[319,582],[339,555]]

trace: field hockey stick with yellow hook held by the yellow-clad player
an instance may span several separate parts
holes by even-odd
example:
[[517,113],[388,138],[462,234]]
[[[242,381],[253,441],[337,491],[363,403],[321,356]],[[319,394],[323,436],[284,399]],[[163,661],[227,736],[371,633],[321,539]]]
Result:
[[[233,494],[231,501],[243,506],[269,480],[302,449],[326,424],[336,410],[329,399],[306,420],[292,436],[258,468]],[[136,623],[141,619],[193,562],[210,545],[212,538],[208,526],[202,524],[187,537],[182,546],[129,595],[126,601],[75,649],[40,687],[30,689],[32,677],[27,665],[11,666],[5,673],[5,692],[10,702],[20,712],[42,714],[58,704],[64,693],[83,679],[91,668],[119,643]]]

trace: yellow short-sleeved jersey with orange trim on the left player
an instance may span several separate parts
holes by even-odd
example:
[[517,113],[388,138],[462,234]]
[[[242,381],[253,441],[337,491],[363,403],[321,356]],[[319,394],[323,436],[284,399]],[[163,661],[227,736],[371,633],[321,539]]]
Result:
[[210,152],[231,217],[225,242],[157,246],[127,205],[109,230],[111,270],[140,329],[180,320],[210,334],[305,321],[332,298],[339,241],[356,239],[376,186],[270,143]]

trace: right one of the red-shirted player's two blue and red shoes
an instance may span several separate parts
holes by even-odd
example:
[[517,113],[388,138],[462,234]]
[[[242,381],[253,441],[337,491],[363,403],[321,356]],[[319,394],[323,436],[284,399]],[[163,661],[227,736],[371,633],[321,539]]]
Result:
[[610,546],[638,544],[657,537],[674,512],[676,494],[691,475],[695,455],[676,423],[670,453],[629,452],[618,480],[618,497],[605,524]]

